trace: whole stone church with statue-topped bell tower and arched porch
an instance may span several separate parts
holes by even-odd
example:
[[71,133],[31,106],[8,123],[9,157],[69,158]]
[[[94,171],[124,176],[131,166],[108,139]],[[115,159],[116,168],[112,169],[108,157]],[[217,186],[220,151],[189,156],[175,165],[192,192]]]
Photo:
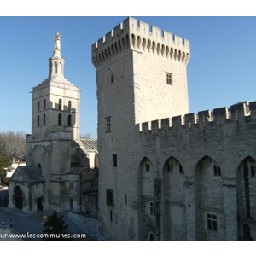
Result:
[[32,90],[32,134],[26,166],[9,179],[9,208],[28,213],[71,210],[96,217],[96,140],[79,139],[79,87],[64,78],[60,34],[49,58],[49,76]]

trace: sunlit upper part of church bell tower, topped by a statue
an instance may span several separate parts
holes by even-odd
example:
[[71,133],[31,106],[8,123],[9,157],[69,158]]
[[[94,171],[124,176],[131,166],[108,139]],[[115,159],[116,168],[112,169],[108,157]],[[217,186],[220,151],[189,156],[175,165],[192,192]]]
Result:
[[56,32],[55,49],[49,58],[49,76],[32,90],[32,140],[50,139],[53,131],[71,133],[79,139],[80,90],[64,78],[61,36]]

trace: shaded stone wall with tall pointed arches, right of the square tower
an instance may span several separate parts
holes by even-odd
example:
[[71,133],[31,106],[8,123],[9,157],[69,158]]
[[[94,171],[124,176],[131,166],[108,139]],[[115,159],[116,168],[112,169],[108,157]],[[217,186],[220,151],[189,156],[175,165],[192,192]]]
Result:
[[[189,114],[184,123],[182,117],[172,118],[172,126],[166,119],[152,122],[150,130],[143,124],[139,131],[137,125],[138,159],[147,158],[150,164],[150,172],[143,162],[139,166],[144,205],[139,214],[152,222],[148,198],[155,205],[160,200],[159,225],[154,215],[154,232],[160,232],[160,239],[237,240],[244,235],[243,224],[249,224],[256,238],[255,103],[236,104],[230,115],[225,115],[229,113],[225,108],[213,110],[213,119],[199,114],[199,119],[189,122]],[[162,184],[160,198],[152,190],[156,179]],[[212,215],[217,217],[216,227],[207,224]],[[147,227],[143,221],[139,229],[145,232]],[[141,238],[146,237],[143,233]]]

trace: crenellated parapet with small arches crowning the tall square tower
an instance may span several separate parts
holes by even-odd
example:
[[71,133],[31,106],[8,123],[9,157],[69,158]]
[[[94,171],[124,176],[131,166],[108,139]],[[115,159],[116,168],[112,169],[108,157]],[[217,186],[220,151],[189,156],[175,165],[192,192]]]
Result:
[[189,40],[129,17],[92,44],[92,63],[100,67],[127,49],[158,55],[185,65],[190,58]]

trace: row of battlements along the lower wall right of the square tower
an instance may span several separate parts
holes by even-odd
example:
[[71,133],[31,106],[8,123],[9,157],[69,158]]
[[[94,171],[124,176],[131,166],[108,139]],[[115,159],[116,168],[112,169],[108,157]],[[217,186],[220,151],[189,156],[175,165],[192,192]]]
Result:
[[184,116],[153,120],[137,124],[137,131],[154,131],[160,129],[193,128],[195,125],[207,126],[225,125],[230,122],[243,122],[245,119],[256,120],[256,102],[240,102],[230,108],[215,108],[213,111],[205,110],[198,113],[188,113]]

